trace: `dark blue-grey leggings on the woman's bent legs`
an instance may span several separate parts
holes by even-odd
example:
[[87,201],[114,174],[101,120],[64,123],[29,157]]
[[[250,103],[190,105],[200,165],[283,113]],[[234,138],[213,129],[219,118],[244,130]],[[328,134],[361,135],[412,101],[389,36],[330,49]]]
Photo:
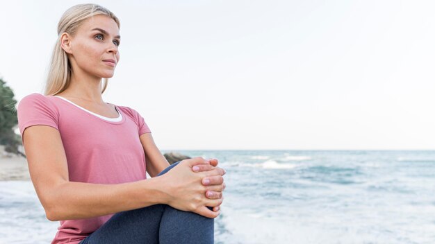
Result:
[[[163,175],[179,162],[165,168]],[[208,209],[213,210],[212,207]],[[213,243],[214,218],[180,211],[167,204],[122,211],[79,244],[97,243]]]

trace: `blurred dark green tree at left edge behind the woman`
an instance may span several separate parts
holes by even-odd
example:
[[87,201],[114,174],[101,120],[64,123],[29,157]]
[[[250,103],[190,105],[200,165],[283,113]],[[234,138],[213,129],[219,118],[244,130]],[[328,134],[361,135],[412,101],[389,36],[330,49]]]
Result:
[[14,92],[0,78],[0,145],[5,146],[6,152],[18,153],[21,138],[15,134],[17,128],[17,110]]

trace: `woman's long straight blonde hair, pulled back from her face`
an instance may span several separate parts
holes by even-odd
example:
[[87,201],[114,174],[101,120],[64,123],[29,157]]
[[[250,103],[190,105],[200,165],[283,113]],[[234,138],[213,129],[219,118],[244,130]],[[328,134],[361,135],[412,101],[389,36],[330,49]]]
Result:
[[[71,82],[71,67],[69,64],[67,53],[60,46],[60,35],[68,33],[74,35],[76,30],[85,19],[95,15],[107,15],[115,20],[118,28],[120,28],[120,20],[110,12],[107,8],[97,4],[86,3],[78,4],[67,9],[58,23],[58,40],[54,46],[47,83],[45,85],[45,95],[56,95],[65,91]],[[104,85],[101,88],[101,94],[106,90],[108,78],[104,78]]]

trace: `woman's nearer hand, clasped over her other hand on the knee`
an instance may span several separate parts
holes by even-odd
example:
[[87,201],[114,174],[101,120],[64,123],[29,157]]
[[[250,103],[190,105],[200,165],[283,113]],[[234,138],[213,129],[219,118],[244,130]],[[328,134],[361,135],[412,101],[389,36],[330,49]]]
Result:
[[223,170],[213,166],[214,168],[210,171],[192,171],[193,166],[202,166],[203,164],[210,164],[210,162],[202,157],[185,159],[170,171],[156,177],[162,181],[160,184],[161,191],[165,195],[163,203],[181,211],[192,211],[208,218],[216,218],[220,214],[220,211],[212,211],[208,207],[214,208],[220,206],[224,198],[206,198],[205,193],[208,187],[211,186],[204,186],[202,179],[216,175],[221,175],[222,177]]

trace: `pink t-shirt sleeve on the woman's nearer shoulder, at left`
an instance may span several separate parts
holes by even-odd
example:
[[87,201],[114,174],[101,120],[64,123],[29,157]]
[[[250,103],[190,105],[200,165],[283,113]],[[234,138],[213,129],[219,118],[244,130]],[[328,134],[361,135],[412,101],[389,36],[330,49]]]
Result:
[[17,105],[17,118],[22,142],[24,130],[31,125],[49,125],[59,130],[56,107],[42,94],[33,93],[22,98]]

